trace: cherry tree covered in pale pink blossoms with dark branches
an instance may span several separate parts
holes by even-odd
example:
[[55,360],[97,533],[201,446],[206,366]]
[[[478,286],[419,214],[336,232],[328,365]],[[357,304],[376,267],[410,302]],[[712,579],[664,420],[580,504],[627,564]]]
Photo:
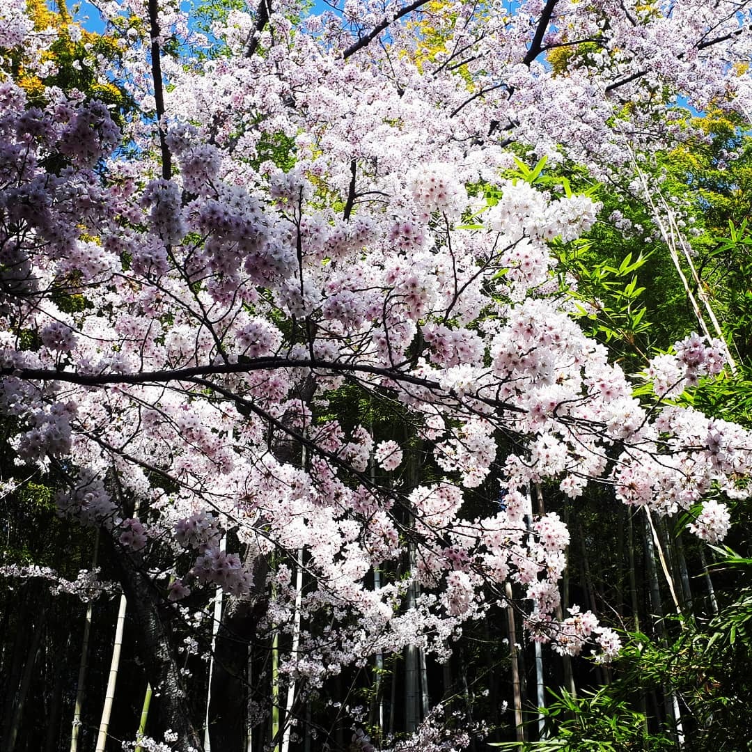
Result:
[[[745,114],[748,5],[262,0],[202,38],[177,4],[105,2],[123,128],[5,76],[0,408],[17,464],[111,541],[177,749],[202,735],[168,620],[215,587],[229,631],[294,635],[300,699],[408,645],[444,659],[508,583],[532,638],[614,656],[592,612],[556,618],[569,531],[526,520],[535,484],[608,484],[723,538],[750,435],[679,398],[725,344],[687,332],[635,397],[550,250],[599,205],[514,177],[511,147],[633,177],[681,138],[678,97]],[[420,62],[413,17],[438,39]],[[46,45],[6,3],[0,47],[43,82]],[[333,416],[343,393],[402,432]],[[409,748],[447,748],[436,717]]]

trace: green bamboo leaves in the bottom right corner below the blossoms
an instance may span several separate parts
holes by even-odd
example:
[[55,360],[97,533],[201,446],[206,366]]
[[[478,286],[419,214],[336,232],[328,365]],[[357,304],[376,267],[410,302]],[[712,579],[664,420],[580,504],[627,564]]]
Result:
[[[724,554],[718,566],[740,569],[745,576],[752,571],[752,559],[717,550]],[[517,748],[543,752],[675,749],[675,724],[658,717],[659,705],[653,705],[650,713],[645,706],[635,707],[640,698],[673,695],[681,710],[687,749],[752,750],[747,730],[752,702],[748,670],[752,586],[738,590],[720,613],[706,622],[690,619],[677,623],[678,635],[666,643],[652,641],[641,632],[628,635],[614,664],[617,678],[611,684],[577,698],[563,691],[551,693],[553,702],[541,709],[547,738]],[[666,626],[671,625],[669,620]]]

